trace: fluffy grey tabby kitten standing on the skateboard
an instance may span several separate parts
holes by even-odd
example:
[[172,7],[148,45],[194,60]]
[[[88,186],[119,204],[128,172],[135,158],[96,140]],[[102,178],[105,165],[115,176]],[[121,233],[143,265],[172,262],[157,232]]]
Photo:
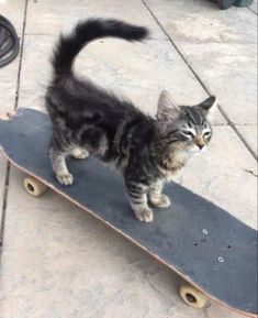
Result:
[[122,172],[136,218],[152,222],[147,200],[159,208],[169,207],[169,198],[161,193],[164,182],[210,142],[206,116],[215,98],[194,107],[177,107],[164,91],[154,119],[72,72],[77,54],[96,39],[142,41],[147,35],[145,28],[116,20],[90,19],[77,24],[70,35],[60,36],[55,50],[46,108],[53,123],[49,156],[58,182],[72,184],[66,156],[94,155]]

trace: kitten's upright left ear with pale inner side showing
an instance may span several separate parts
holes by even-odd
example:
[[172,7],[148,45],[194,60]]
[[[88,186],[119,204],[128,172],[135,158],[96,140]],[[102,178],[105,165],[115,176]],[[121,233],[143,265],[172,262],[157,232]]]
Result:
[[175,102],[171,95],[164,90],[158,99],[158,111],[156,118],[160,121],[168,121],[176,119],[180,113],[180,108]]

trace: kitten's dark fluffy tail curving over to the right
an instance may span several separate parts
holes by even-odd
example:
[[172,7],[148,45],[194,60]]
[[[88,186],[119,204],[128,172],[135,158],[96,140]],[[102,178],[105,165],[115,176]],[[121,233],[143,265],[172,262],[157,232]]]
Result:
[[79,22],[70,35],[61,35],[53,57],[55,76],[71,72],[77,54],[93,40],[112,36],[127,41],[142,41],[148,30],[119,20],[89,19]]

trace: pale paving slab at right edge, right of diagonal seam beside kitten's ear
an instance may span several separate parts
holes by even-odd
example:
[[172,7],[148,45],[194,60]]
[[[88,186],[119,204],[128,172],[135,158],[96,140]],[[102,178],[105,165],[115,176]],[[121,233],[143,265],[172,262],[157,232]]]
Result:
[[256,44],[186,46],[188,61],[201,74],[211,92],[217,96],[231,121],[236,124],[257,124]]

